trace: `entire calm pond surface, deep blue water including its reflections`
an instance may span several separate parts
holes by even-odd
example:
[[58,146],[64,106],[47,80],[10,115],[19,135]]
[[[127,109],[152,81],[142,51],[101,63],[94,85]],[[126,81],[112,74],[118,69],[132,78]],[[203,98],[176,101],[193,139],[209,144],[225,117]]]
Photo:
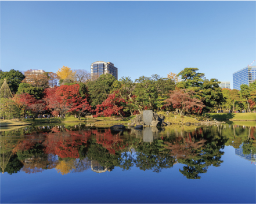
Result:
[[250,126],[1,132],[1,203],[255,203]]

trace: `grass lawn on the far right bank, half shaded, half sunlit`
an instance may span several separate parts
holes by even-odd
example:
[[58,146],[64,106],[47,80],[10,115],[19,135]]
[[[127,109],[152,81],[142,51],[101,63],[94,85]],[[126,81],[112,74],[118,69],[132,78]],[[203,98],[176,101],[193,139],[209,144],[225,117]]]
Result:
[[256,113],[209,113],[210,118],[229,120],[255,120]]

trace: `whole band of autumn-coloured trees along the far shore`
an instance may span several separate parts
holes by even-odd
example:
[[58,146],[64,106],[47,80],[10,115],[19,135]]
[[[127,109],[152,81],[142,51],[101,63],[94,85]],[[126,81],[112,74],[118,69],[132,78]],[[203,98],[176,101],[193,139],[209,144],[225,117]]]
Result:
[[[256,81],[250,86],[241,85],[241,91],[221,89],[217,79],[206,79],[198,71],[185,68],[178,75],[170,73],[167,78],[140,76],[135,81],[130,77],[116,80],[110,74],[92,80],[88,72],[72,71],[65,66],[51,76],[49,73],[33,75],[31,71],[26,76],[14,70],[1,72],[1,83],[7,79],[14,95],[12,99],[1,100],[1,117],[43,112],[62,117],[64,114],[124,117],[147,109],[190,115],[256,109]],[[39,80],[40,77],[45,80]]]

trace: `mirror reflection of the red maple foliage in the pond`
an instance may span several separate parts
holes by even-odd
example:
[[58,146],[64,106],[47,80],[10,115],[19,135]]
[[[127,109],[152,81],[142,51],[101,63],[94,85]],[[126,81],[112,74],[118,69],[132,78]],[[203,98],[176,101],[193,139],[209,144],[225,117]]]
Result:
[[[125,149],[128,145],[124,144],[118,133],[113,134],[110,129],[104,129],[104,132],[96,129],[89,131],[68,131],[66,129],[65,132],[60,132],[59,128],[55,127],[52,132],[26,136],[26,140],[21,140],[14,151],[33,149],[39,142],[44,146],[46,154],[58,155],[61,158],[78,158],[80,146],[86,146],[87,140],[92,135],[96,138],[96,142],[106,148],[110,154],[116,154],[116,151]],[[38,137],[41,139],[38,140]]]

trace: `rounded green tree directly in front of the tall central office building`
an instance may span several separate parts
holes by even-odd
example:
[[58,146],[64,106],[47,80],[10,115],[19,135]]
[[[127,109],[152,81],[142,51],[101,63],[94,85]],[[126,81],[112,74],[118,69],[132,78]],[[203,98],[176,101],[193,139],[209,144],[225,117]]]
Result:
[[92,107],[96,107],[96,105],[101,104],[107,99],[114,81],[116,81],[116,78],[108,73],[100,75],[95,81],[88,81],[88,93],[91,97],[90,102]]

